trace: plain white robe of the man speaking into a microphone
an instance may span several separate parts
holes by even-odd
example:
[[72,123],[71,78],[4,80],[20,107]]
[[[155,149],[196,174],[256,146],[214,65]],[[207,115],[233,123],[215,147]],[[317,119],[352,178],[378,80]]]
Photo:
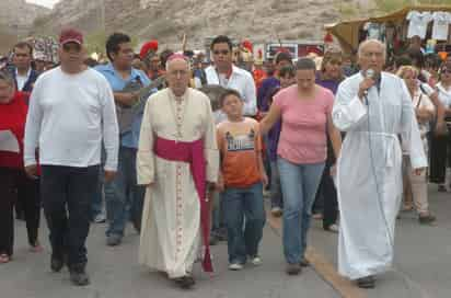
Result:
[[[338,272],[357,279],[389,270],[402,198],[402,135],[413,169],[426,168],[418,124],[404,81],[382,72],[368,105],[357,96],[361,73],[346,79],[334,102],[335,126],[346,131],[337,161],[340,210]],[[379,91],[380,90],[380,91]]]

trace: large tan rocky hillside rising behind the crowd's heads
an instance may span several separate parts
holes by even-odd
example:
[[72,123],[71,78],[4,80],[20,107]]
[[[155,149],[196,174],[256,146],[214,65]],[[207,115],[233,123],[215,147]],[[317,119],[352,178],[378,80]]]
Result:
[[[13,0],[11,0],[13,1]],[[323,24],[340,19],[348,7],[368,9],[371,0],[61,0],[51,14],[36,21],[32,33],[56,34],[63,26],[86,33],[124,31],[140,41],[158,38],[190,47],[206,37],[227,34],[255,42],[322,39]]]

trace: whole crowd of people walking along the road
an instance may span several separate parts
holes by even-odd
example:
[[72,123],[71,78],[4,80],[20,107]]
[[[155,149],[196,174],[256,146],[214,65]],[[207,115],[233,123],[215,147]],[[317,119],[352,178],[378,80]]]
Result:
[[[315,213],[339,232],[339,273],[371,288],[392,264],[398,213],[436,221],[428,182],[450,188],[451,61],[430,62],[417,44],[390,67],[375,39],[352,67],[335,48],[244,66],[223,35],[211,61],[159,51],[157,41],[136,54],[123,33],[105,53],[107,62],[88,58],[69,28],[58,65],[36,68],[22,42],[0,70],[0,263],[13,260],[14,207],[31,250],[43,251],[43,208],[51,271],[68,266],[73,284],[90,283],[90,224],[106,220],[107,245],[120,245],[131,221],[139,263],[192,288],[196,260],[213,271],[218,241],[231,271],[263,263],[269,196],[287,274],[309,266]],[[209,98],[205,87],[219,91]]]

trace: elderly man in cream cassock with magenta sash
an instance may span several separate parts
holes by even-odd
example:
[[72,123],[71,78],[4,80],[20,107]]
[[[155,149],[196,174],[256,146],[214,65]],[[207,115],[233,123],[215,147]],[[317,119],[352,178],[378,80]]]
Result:
[[[208,250],[205,192],[207,182],[217,181],[219,153],[210,101],[187,88],[184,57],[169,60],[166,78],[170,88],[150,96],[140,133],[138,183],[148,187],[139,262],[188,288],[201,239]],[[207,259],[204,267],[211,271]]]

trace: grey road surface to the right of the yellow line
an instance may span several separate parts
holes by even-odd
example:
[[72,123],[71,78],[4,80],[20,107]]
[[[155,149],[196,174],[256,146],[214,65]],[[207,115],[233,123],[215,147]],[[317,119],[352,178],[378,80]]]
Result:
[[[419,226],[414,213],[402,213],[395,236],[394,270],[379,277],[368,297],[451,297],[451,194],[429,187],[430,208],[436,227]],[[311,244],[336,267],[337,237],[331,237],[314,222]],[[369,231],[370,232],[370,231]]]

